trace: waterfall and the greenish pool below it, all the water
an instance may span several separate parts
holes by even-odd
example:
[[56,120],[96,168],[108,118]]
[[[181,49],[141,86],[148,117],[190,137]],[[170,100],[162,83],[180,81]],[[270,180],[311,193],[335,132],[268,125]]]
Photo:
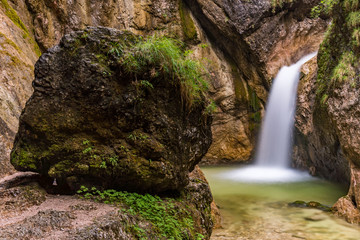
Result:
[[254,165],[202,167],[222,214],[211,239],[360,240],[360,227],[296,200],[332,206],[345,186],[289,168],[299,71],[316,53],[283,67],[274,80]]

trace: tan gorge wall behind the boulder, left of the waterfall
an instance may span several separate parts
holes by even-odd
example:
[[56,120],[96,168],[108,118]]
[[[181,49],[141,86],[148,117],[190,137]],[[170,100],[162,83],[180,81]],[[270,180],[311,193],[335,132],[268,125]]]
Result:
[[39,48],[44,51],[64,34],[86,26],[166,34],[185,41],[209,67],[210,93],[218,106],[213,144],[204,163],[250,160],[272,78],[280,66],[296,61],[321,42],[327,22],[310,17],[317,2],[273,6],[266,0],[2,1],[4,123],[0,142],[5,154],[0,174],[13,171],[8,155],[21,109],[32,92],[32,66]]

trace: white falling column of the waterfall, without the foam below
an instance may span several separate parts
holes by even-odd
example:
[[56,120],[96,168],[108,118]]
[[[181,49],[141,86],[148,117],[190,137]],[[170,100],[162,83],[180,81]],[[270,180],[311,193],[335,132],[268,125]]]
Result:
[[315,55],[316,53],[306,55],[297,63],[282,67],[277,74],[267,102],[256,165],[283,168],[289,166],[300,68]]

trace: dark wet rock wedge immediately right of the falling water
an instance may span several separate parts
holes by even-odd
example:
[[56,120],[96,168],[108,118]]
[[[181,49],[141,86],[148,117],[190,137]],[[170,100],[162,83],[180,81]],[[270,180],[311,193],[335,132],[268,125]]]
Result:
[[323,104],[316,102],[316,57],[302,67],[295,115],[293,164],[315,176],[350,182],[349,163]]

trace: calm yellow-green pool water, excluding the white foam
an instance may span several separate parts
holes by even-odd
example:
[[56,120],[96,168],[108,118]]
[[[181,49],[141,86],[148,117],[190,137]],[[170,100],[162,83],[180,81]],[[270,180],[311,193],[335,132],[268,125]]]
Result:
[[222,214],[212,240],[360,240],[360,227],[317,209],[289,207],[296,200],[333,205],[346,187],[320,179],[243,183],[224,176],[239,167],[202,167]]

